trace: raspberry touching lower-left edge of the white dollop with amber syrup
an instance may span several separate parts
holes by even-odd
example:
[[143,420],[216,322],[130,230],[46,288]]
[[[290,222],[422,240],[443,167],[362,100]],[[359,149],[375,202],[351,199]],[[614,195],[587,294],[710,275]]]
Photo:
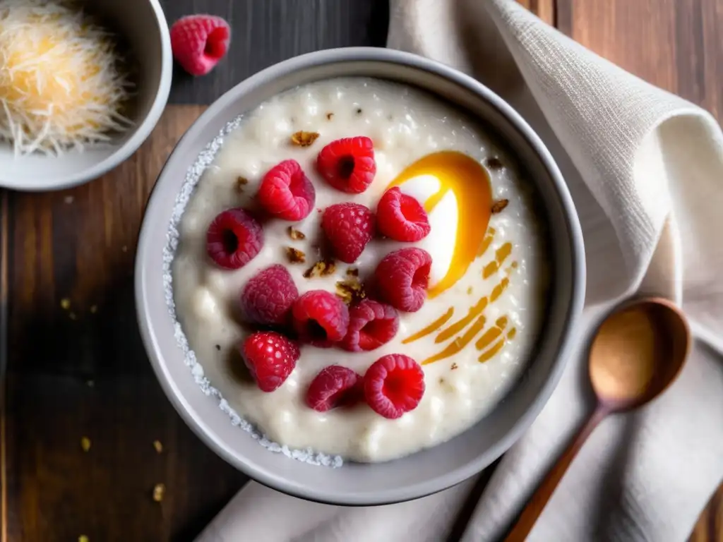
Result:
[[432,257],[426,250],[409,248],[390,252],[375,271],[380,298],[400,311],[419,311],[427,297],[431,268]]

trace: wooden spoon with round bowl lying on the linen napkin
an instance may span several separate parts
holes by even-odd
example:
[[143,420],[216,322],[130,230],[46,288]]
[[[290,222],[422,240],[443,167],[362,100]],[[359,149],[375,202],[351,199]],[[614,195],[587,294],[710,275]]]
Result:
[[659,395],[680,373],[690,349],[683,313],[662,298],[628,301],[608,315],[589,352],[596,406],[568,449],[531,497],[505,539],[522,542],[583,443],[608,414],[637,408]]

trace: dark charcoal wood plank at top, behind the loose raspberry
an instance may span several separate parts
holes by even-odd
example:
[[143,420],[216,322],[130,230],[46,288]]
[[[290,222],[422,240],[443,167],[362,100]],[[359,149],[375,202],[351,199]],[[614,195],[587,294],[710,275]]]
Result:
[[[550,1],[550,0],[544,0]],[[265,67],[304,53],[348,46],[385,46],[388,0],[164,0],[169,24],[189,13],[226,19],[228,56],[205,77],[174,73],[171,103],[211,103]]]

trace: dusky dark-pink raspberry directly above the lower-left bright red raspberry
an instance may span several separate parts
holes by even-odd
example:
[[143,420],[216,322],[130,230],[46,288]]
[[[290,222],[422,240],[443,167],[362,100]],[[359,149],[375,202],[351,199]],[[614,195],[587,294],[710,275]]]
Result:
[[283,325],[288,322],[291,305],[299,297],[294,279],[281,264],[254,275],[241,291],[241,311],[249,322]]

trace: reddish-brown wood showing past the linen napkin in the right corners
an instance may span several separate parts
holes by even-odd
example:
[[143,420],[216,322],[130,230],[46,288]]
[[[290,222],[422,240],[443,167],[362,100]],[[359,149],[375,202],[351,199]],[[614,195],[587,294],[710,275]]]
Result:
[[[720,0],[559,0],[557,23],[583,46],[723,119]],[[723,542],[723,486],[691,540]]]

